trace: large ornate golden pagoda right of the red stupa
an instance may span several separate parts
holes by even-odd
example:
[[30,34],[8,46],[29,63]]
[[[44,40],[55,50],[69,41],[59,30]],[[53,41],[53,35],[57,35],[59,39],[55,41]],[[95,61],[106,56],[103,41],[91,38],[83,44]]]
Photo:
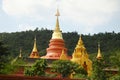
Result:
[[78,44],[76,45],[76,48],[72,55],[72,62],[76,62],[84,67],[84,69],[87,71],[88,76],[91,75],[92,72],[92,61],[89,59],[86,48],[84,47],[82,37],[80,36],[78,40]]

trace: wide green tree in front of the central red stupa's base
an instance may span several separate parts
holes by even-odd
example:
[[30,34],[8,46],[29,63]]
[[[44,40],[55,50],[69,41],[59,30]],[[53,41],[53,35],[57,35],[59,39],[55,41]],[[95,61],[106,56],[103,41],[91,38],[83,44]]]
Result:
[[71,73],[85,73],[77,63],[68,60],[57,60],[52,63],[52,71],[60,73],[62,77],[68,77]]

